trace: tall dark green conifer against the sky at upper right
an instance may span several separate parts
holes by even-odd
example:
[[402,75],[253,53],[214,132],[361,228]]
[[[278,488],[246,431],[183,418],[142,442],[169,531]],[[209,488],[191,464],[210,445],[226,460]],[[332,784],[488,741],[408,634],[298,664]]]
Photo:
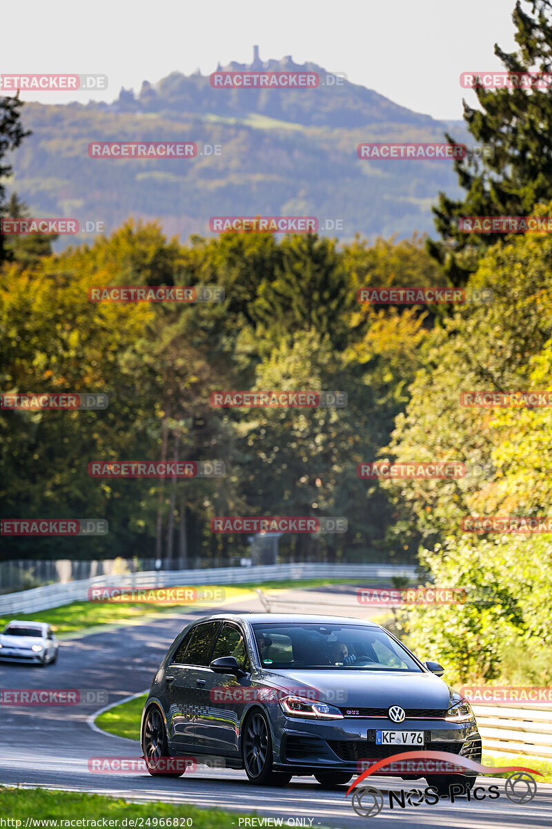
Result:
[[[524,12],[522,2],[528,5]],[[512,53],[495,45],[506,72],[552,71],[552,2],[517,0],[512,19],[518,49]],[[463,102],[464,120],[476,143],[490,145],[491,158],[458,159],[458,181],[466,191],[454,201],[439,194],[433,208],[442,241],[428,241],[428,250],[454,285],[473,271],[478,254],[503,234],[466,234],[458,229],[461,216],[530,216],[535,204],[550,201],[552,189],[552,95],[534,86],[487,90],[474,84],[481,109]],[[448,134],[447,140],[454,139]]]

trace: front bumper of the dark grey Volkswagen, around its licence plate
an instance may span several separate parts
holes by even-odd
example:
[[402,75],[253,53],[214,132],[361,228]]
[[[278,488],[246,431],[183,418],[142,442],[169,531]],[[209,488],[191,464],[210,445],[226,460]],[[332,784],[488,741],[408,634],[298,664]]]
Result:
[[[343,720],[316,721],[282,717],[277,728],[280,739],[275,740],[274,763],[279,768],[296,773],[309,773],[309,769],[332,768],[350,773],[361,773],[378,760],[410,751],[446,751],[479,762],[481,737],[475,720],[468,723],[450,723],[446,720],[406,720],[400,726],[389,720],[345,718]],[[368,739],[368,732],[377,729],[424,731],[424,745],[377,745],[375,735]],[[407,763],[408,761],[406,761]],[[410,773],[417,765],[410,764]],[[310,773],[313,773],[310,771]],[[378,774],[404,777],[409,768],[386,767]],[[417,776],[423,776],[418,774]]]

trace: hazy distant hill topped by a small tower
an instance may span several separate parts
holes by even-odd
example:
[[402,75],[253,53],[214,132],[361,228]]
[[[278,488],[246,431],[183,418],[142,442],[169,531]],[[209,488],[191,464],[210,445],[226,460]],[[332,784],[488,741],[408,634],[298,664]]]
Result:
[[[218,70],[326,70],[259,60]],[[459,90],[458,90],[459,91]],[[209,235],[211,216],[317,216],[340,219],[338,235],[409,236],[434,231],[439,190],[458,193],[449,160],[366,161],[364,141],[441,141],[448,129],[468,143],[463,122],[436,121],[354,85],[314,90],[215,90],[209,76],[173,72],[113,104],[26,104],[33,134],[13,156],[11,187],[34,216],[104,221],[158,219],[169,235]],[[194,159],[89,158],[92,141],[222,144]],[[323,231],[324,232],[324,231]],[[90,240],[80,236],[78,240]],[[61,239],[57,247],[69,244]]]

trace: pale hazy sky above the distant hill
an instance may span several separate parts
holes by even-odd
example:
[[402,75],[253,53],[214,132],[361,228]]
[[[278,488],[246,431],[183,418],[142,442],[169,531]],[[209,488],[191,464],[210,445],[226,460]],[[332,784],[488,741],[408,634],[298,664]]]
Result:
[[[439,119],[462,117],[463,71],[497,70],[515,46],[515,0],[26,0],[0,5],[2,73],[103,73],[108,90],[25,93],[26,100],[111,101],[174,70],[291,55],[314,61]],[[0,93],[1,94],[1,93]]]

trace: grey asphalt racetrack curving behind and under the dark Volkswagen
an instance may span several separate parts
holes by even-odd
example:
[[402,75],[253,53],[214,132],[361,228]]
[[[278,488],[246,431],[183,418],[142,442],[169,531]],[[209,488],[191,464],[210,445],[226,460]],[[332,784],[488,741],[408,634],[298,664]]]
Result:
[[[336,595],[317,591],[301,591],[319,605],[319,612],[362,615],[353,604],[355,588],[339,589]],[[335,601],[334,606],[332,606]],[[351,601],[351,610],[342,602]],[[328,602],[326,605],[325,603]],[[356,612],[355,611],[356,607]],[[254,610],[261,606],[257,599],[226,605],[223,609]],[[300,608],[279,606],[277,609],[296,612]],[[311,612],[307,606],[303,612]],[[108,703],[145,691],[161,662],[166,647],[176,633],[195,616],[213,612],[200,610],[193,614],[161,616],[143,625],[132,625],[103,633],[92,633],[60,644],[55,665],[46,668],[7,664],[0,666],[0,687],[6,689],[78,688],[108,691]],[[313,605],[312,612],[316,612]],[[421,655],[424,657],[424,655]],[[99,733],[89,725],[89,718],[98,708],[97,701],[79,705],[2,705],[0,744],[0,783],[28,787],[70,789],[125,797],[137,802],[190,803],[199,807],[220,807],[238,812],[257,812],[258,817],[281,817],[282,826],[301,827],[551,827],[552,786],[538,783],[534,800],[527,805],[511,803],[504,795],[504,780],[479,778],[484,787],[497,783],[499,798],[468,802],[466,797],[451,804],[441,801],[435,806],[384,806],[376,817],[359,817],[345,797],[347,786],[326,791],[314,778],[292,778],[284,788],[252,786],[242,771],[202,768],[186,772],[181,778],[152,778],[147,773],[94,773],[89,771],[93,757],[139,758],[138,741]],[[526,766],[530,768],[530,758]],[[424,788],[425,780],[371,778],[381,789]],[[152,810],[152,817],[155,810]],[[86,817],[83,815],[83,817]],[[244,826],[244,824],[241,824]],[[255,825],[255,824],[253,824]],[[258,822],[257,826],[262,823]],[[268,824],[270,825],[270,823]],[[226,829],[226,827],[221,827]]]

